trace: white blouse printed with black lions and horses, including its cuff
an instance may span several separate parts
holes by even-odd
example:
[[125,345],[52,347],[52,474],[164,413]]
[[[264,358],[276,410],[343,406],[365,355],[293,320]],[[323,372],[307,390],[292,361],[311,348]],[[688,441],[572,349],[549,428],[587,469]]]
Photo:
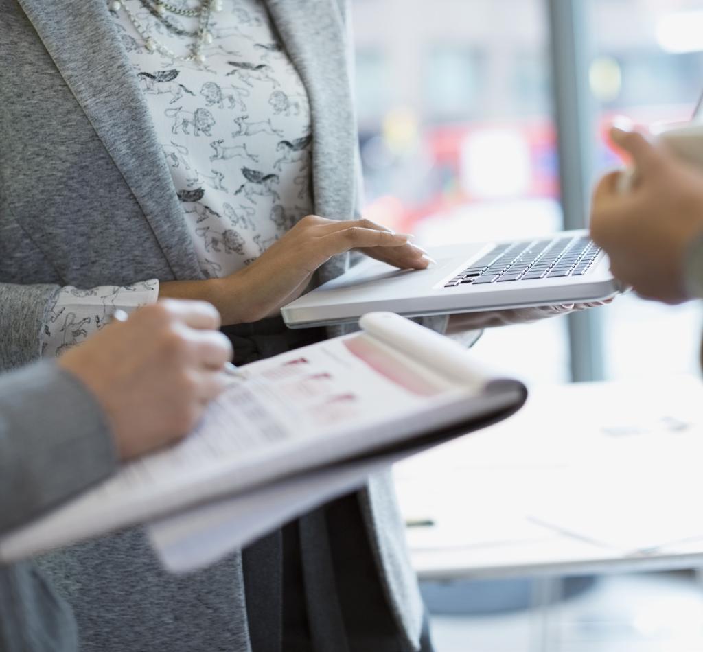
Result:
[[[192,6],[193,0],[171,0]],[[123,0],[157,41],[186,53],[178,37]],[[311,213],[311,124],[307,92],[260,0],[226,0],[211,22],[204,65],[146,49],[124,10],[112,15],[150,109],[183,203],[203,273],[243,268]],[[192,31],[197,18],[169,15]],[[127,287],[65,287],[43,334],[55,356],[97,330],[115,308],[156,301],[158,281]]]

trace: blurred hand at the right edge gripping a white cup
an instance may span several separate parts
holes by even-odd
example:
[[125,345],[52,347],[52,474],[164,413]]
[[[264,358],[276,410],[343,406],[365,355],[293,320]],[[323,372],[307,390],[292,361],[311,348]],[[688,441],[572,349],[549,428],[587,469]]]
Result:
[[612,140],[633,157],[636,183],[619,192],[619,172],[595,190],[591,235],[610,256],[612,273],[649,299],[688,299],[685,254],[703,233],[703,174],[640,133],[612,129]]

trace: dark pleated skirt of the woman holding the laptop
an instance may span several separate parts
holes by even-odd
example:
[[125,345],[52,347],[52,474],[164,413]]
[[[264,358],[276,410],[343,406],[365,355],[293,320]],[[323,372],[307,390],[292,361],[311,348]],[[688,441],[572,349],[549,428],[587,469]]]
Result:
[[[223,332],[238,365],[326,337],[322,328],[288,330],[279,318]],[[263,537],[242,561],[253,652],[404,650],[356,494]],[[426,621],[422,652],[432,652]]]

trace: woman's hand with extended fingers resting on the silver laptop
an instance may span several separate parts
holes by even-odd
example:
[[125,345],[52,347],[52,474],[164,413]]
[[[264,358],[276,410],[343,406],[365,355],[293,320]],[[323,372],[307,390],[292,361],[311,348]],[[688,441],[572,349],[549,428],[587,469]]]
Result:
[[370,220],[309,215],[250,266],[224,278],[162,283],[160,296],[209,301],[225,325],[255,322],[297,299],[323,263],[350,249],[402,269],[427,268],[431,259],[410,237]]

